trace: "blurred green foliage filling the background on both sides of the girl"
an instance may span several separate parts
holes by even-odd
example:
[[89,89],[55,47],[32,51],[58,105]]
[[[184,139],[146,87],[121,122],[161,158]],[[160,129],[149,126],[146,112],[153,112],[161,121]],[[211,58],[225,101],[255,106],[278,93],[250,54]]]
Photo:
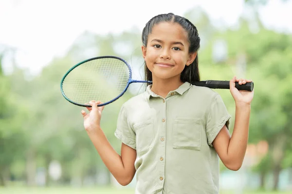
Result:
[[[201,20],[192,12],[187,16],[199,24],[199,34],[204,39],[199,51],[201,80],[230,80],[234,75],[242,74],[237,69],[237,62],[241,55],[246,56],[244,74],[255,83],[249,141],[257,143],[266,140],[273,147],[281,139],[275,137],[285,135],[282,151],[286,157],[280,162],[285,168],[291,167],[291,34],[269,31],[261,24],[258,32],[251,33],[245,21],[241,22],[239,29],[219,32],[204,13],[201,13]],[[0,172],[8,168],[21,178],[25,177],[26,161],[35,161],[36,167],[48,168],[53,160],[61,163],[64,181],[103,172],[106,167],[83,127],[80,111],[84,108],[62,97],[60,81],[69,68],[90,57],[114,55],[128,62],[141,59],[140,33],[135,29],[106,36],[85,32],[66,56],[55,58],[30,81],[25,79],[21,69],[16,69],[10,76],[0,75]],[[218,39],[225,40],[228,46],[228,59],[221,63],[214,62],[211,54],[213,43]],[[141,65],[140,62],[132,64],[136,68],[141,68]],[[233,97],[229,90],[215,91],[222,96],[229,113],[233,115],[230,123],[232,132],[235,114]],[[120,152],[121,146],[114,136],[117,115],[122,104],[133,95],[136,93],[127,92],[103,111],[101,127],[117,152]],[[34,150],[35,155],[28,156],[28,150]],[[270,150],[254,170],[266,172],[273,169],[276,161],[273,157]],[[220,167],[225,169],[222,164]]]

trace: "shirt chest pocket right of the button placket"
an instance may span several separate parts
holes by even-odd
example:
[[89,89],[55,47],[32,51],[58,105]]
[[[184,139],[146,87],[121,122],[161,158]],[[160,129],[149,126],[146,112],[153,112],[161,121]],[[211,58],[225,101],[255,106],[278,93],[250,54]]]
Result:
[[201,150],[201,119],[176,118],[172,129],[174,149]]

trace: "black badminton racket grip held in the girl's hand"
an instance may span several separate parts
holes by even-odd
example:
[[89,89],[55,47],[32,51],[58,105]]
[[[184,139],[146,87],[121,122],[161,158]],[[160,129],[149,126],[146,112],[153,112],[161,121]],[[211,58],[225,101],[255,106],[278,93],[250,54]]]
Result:
[[[206,80],[206,81],[194,81],[193,85],[204,86],[213,89],[230,89],[229,81],[218,81],[218,80]],[[245,84],[239,85],[238,82],[235,82],[235,87],[237,90],[245,90],[245,91],[253,91],[254,90],[254,82],[248,82]]]

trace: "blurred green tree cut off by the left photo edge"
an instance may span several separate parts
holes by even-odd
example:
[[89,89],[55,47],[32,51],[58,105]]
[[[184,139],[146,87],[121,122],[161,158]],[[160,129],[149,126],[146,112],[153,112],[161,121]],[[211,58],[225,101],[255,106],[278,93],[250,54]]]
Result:
[[[2,59],[2,55],[0,55]],[[4,76],[0,60],[0,186],[10,179],[11,166],[22,156],[25,140],[21,123],[25,110],[11,91],[11,77]]]

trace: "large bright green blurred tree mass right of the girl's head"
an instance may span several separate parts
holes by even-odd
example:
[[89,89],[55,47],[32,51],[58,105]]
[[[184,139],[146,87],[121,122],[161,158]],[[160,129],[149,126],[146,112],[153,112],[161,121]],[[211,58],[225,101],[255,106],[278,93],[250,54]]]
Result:
[[[284,160],[284,154],[291,153],[289,147],[292,139],[292,123],[289,119],[292,116],[292,37],[290,34],[266,30],[258,18],[255,19],[259,22],[257,32],[251,32],[248,21],[241,18],[239,29],[217,32],[212,36],[208,47],[201,52],[200,71],[202,80],[229,80],[233,75],[243,75],[255,82],[249,142],[266,140],[269,143],[271,160],[265,157],[256,170],[261,173],[262,185],[265,175],[272,170],[273,188],[276,190],[281,169],[291,164],[288,159]],[[210,57],[212,44],[218,39],[227,43],[226,63],[217,64]],[[242,56],[245,62],[239,63]],[[234,100],[229,91],[217,92],[223,97],[229,112],[234,114]]]

